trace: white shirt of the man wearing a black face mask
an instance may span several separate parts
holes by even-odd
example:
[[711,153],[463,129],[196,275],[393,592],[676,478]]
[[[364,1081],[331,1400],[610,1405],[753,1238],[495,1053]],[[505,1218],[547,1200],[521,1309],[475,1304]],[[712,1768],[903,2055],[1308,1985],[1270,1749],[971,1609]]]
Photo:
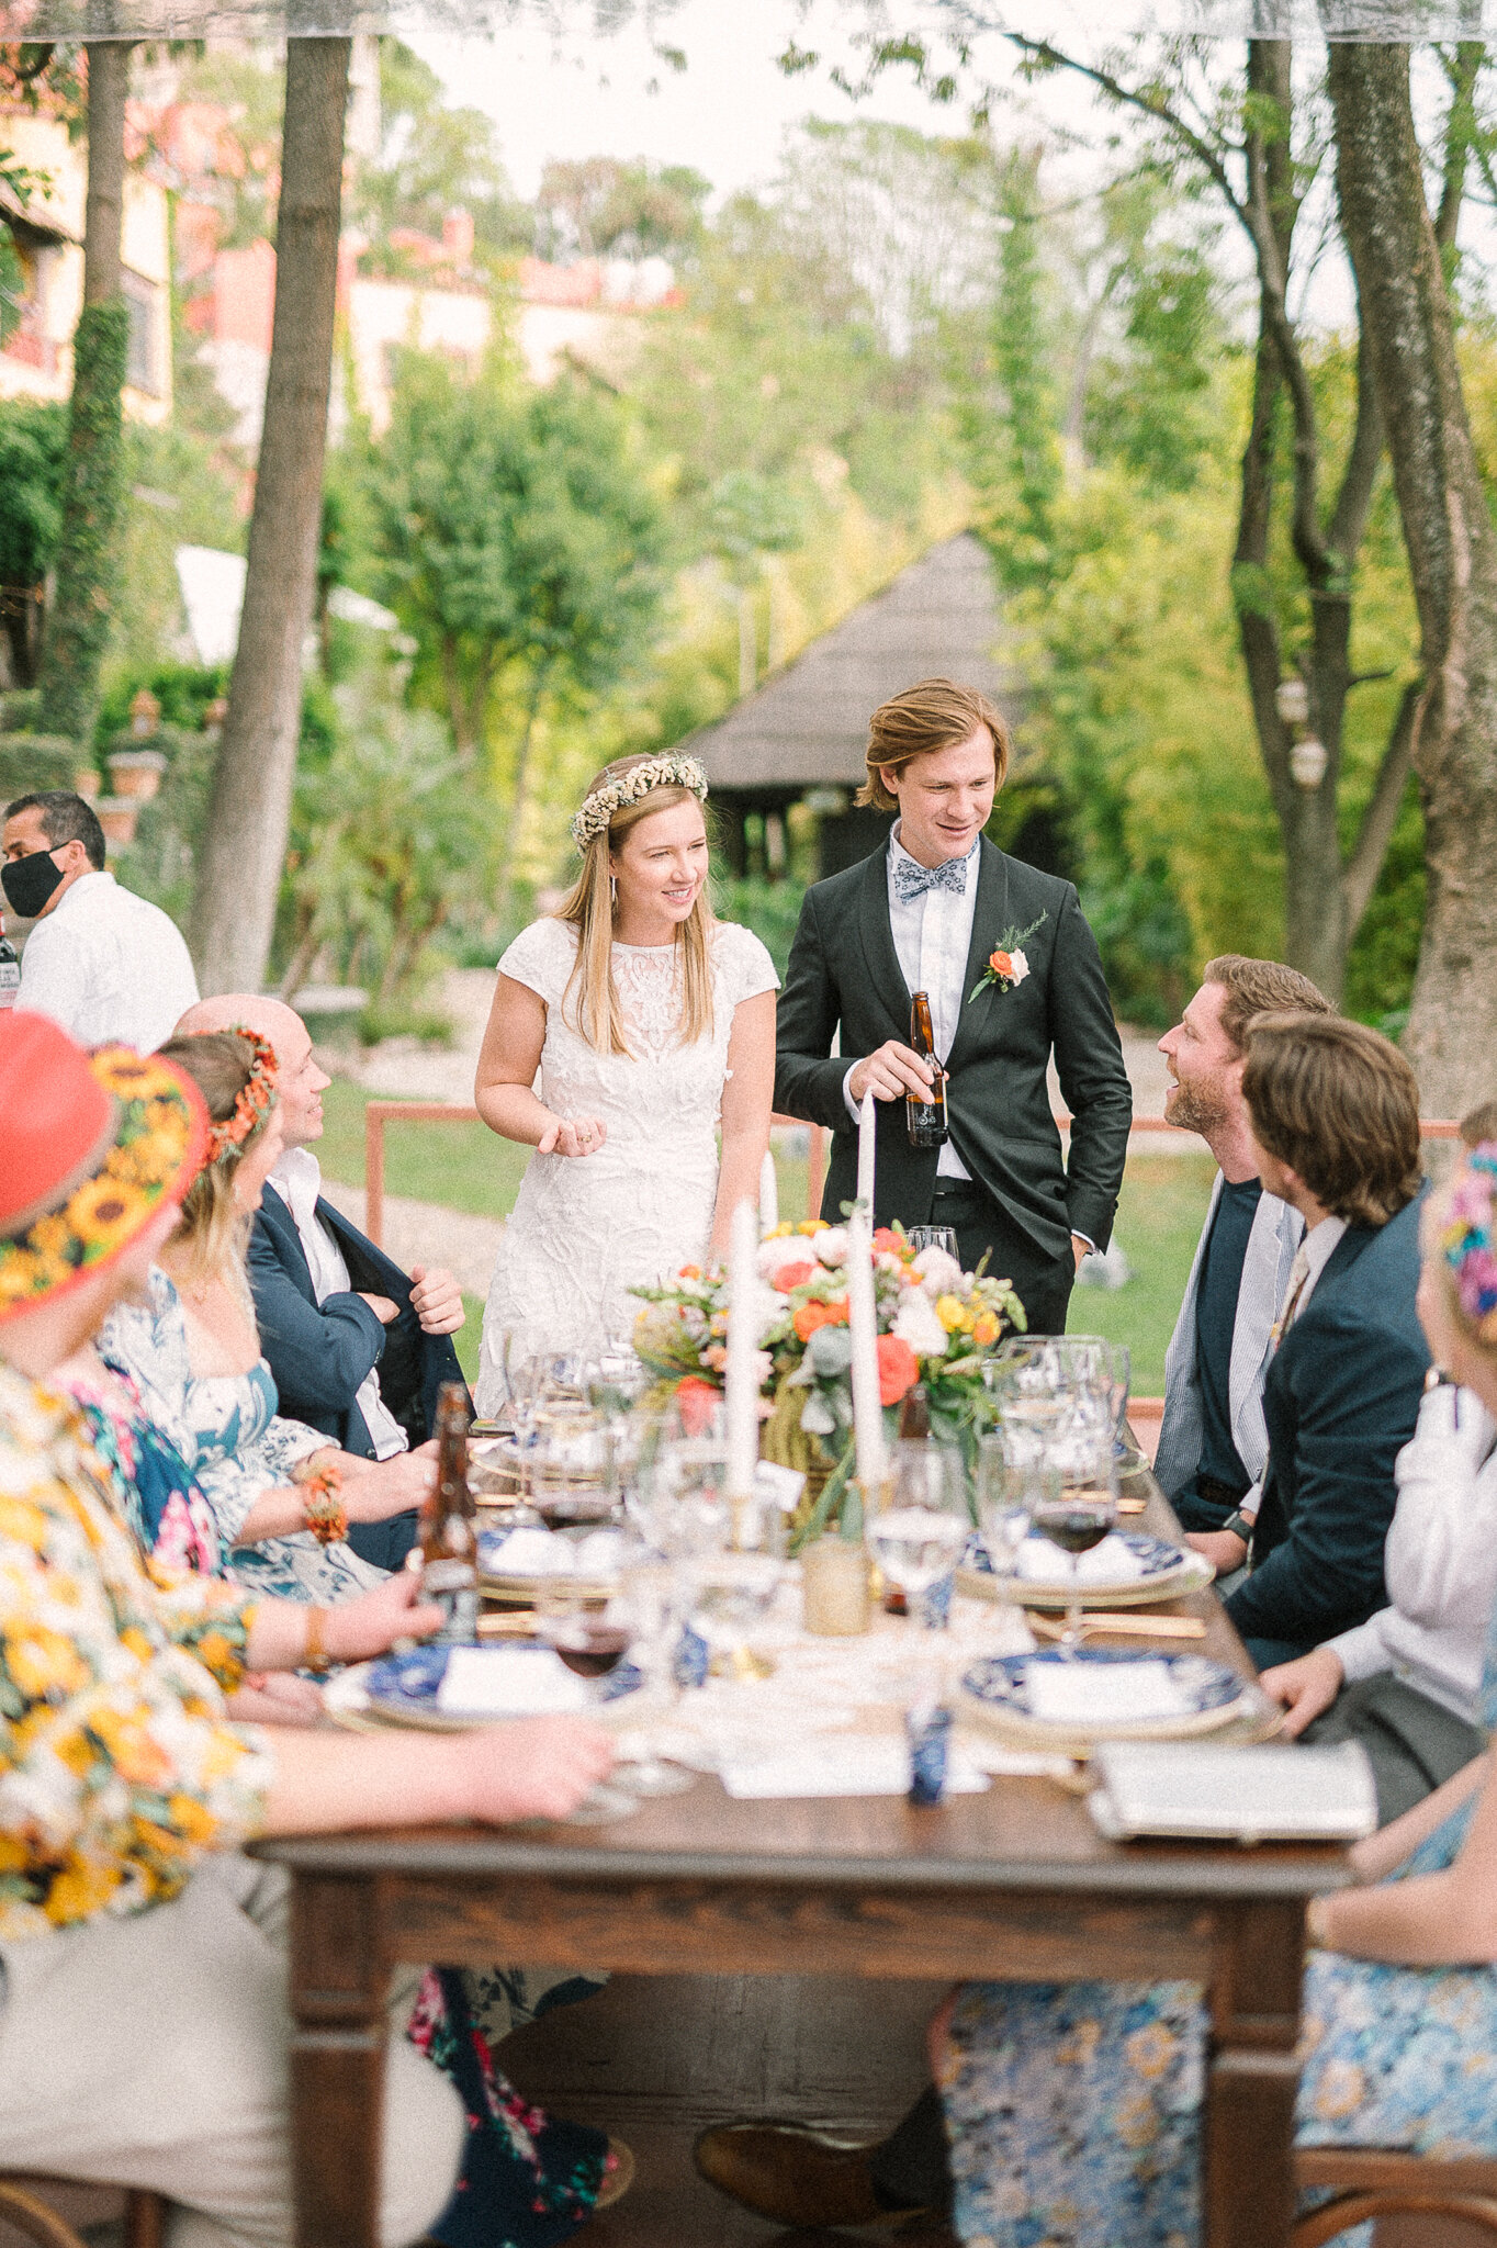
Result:
[[151,1054],[196,1003],[182,931],[112,874],[79,874],[20,955],[16,1005],[49,1014],[79,1045],[119,1041]]

